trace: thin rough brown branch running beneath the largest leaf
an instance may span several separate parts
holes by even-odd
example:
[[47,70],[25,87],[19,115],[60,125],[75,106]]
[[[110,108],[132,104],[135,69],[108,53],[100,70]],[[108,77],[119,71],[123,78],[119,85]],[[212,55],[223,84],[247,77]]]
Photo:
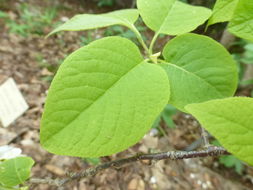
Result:
[[136,154],[135,156],[123,158],[111,162],[106,162],[100,164],[95,167],[88,168],[79,173],[72,173],[69,174],[67,178],[63,179],[37,179],[31,178],[29,180],[30,184],[49,184],[55,186],[62,186],[70,181],[78,180],[84,177],[91,177],[99,172],[108,169],[108,168],[121,168],[126,164],[137,162],[140,160],[150,160],[150,161],[158,161],[164,159],[171,159],[171,160],[181,160],[187,158],[201,158],[201,157],[208,157],[208,156],[221,156],[221,155],[228,155],[230,154],[227,150],[222,147],[217,146],[208,146],[203,150],[197,151],[169,151],[169,152],[161,152],[161,153],[154,153],[154,154]]

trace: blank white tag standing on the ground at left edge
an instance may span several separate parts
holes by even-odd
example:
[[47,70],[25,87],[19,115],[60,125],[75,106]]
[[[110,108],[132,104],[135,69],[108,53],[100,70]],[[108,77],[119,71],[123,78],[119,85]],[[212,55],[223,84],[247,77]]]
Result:
[[27,109],[28,105],[15,81],[9,78],[0,86],[0,120],[3,126],[8,127]]

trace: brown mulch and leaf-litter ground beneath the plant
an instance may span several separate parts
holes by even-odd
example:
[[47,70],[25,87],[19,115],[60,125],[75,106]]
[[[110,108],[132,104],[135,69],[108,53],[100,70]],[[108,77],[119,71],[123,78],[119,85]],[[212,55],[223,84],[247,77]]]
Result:
[[[14,19],[20,15],[16,7],[21,1],[9,1],[8,12]],[[31,4],[43,5],[40,1]],[[79,1],[59,1],[69,7],[60,11],[57,19],[73,16],[77,12],[92,12],[94,4],[83,7]],[[11,8],[10,8],[11,7]],[[103,12],[103,10],[98,10]],[[45,28],[45,33],[52,28]],[[13,145],[31,156],[36,164],[32,176],[40,178],[64,177],[66,172],[81,171],[90,167],[80,158],[57,156],[43,150],[39,144],[40,117],[43,104],[54,70],[66,55],[80,47],[82,32],[69,32],[45,39],[44,36],[22,37],[10,33],[0,20],[0,83],[13,77],[29,110],[8,128],[0,126],[0,146]],[[46,66],[45,66],[46,65]],[[129,150],[104,157],[110,161],[135,154],[136,152],[183,150],[200,139],[198,123],[189,115],[178,113],[174,116],[176,128],[161,123],[164,136],[147,133],[141,142]],[[54,190],[49,185],[34,185],[33,190]],[[217,158],[188,159],[182,161],[164,160],[157,163],[133,163],[121,169],[108,169],[92,178],[73,181],[61,189],[73,190],[244,190],[253,189],[253,168],[245,166],[242,175],[228,169]]]

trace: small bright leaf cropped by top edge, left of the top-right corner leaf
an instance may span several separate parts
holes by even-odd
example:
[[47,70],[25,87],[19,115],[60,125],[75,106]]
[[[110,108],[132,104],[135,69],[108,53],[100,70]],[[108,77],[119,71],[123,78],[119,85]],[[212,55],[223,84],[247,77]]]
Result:
[[217,0],[213,8],[213,14],[208,21],[208,25],[230,21],[238,1],[239,0]]

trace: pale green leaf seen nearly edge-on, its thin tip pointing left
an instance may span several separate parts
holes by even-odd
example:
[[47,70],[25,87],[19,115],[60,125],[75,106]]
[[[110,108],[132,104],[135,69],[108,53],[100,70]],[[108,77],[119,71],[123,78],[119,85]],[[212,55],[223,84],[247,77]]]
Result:
[[104,14],[80,14],[53,30],[48,36],[59,31],[89,30],[112,25],[131,27],[138,17],[139,13],[136,9],[118,10]]

